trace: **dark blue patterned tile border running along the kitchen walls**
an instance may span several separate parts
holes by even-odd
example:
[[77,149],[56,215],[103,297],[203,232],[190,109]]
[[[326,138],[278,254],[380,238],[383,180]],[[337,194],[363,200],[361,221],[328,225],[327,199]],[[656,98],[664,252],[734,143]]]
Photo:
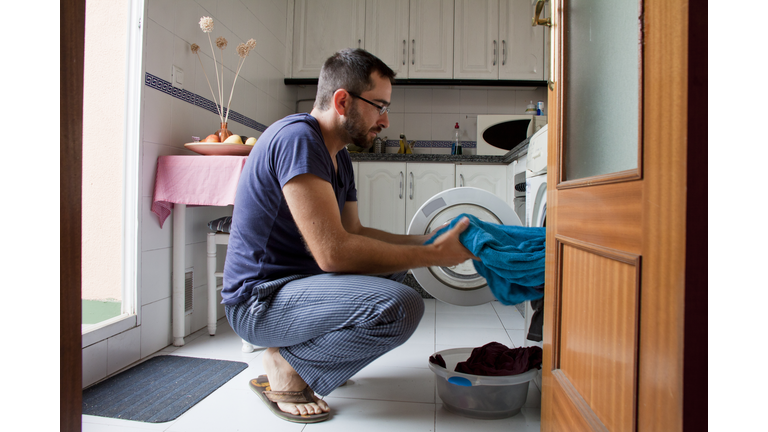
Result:
[[[155,75],[152,75],[150,73],[146,73],[145,75],[146,76],[144,77],[144,85],[146,85],[147,87],[151,87],[155,90],[161,91],[169,96],[175,97],[176,99],[183,100],[184,102],[189,102],[192,105],[200,107],[206,111],[210,111],[214,114],[218,114],[218,110],[216,109],[216,104],[210,99],[207,99],[203,96],[192,93],[188,90],[174,87],[169,81],[156,77]],[[226,115],[226,113],[227,113],[227,110],[225,108],[224,114]],[[248,118],[237,111],[230,112],[228,120],[240,123],[241,125],[247,126],[252,129],[256,129],[259,132],[264,132],[267,129],[267,125],[261,124],[252,118]],[[452,144],[453,144],[453,141],[417,140],[415,146],[419,148],[451,148]],[[400,141],[387,140],[386,146],[400,147]],[[477,142],[462,141],[461,146],[463,148],[476,148]]]

